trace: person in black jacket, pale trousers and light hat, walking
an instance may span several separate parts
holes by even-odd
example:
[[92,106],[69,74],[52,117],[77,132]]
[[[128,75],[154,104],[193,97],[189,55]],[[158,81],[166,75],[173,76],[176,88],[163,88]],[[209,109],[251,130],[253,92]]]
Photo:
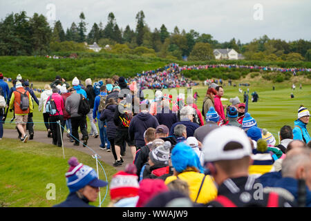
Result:
[[99,136],[96,124],[93,121],[93,108],[94,108],[94,102],[95,102],[95,92],[94,88],[92,86],[92,80],[91,78],[88,78],[85,80],[85,85],[86,85],[86,95],[88,97],[88,104],[90,104],[90,112],[86,115],[88,119],[90,120],[91,123],[91,131],[88,136],[94,136],[97,138]]

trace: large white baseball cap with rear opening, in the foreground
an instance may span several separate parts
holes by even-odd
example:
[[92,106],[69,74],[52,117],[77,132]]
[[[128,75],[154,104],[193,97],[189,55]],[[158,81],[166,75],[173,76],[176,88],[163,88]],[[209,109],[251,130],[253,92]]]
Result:
[[[231,142],[241,145],[231,151],[224,151]],[[205,162],[217,160],[238,160],[252,154],[252,146],[244,131],[235,126],[221,126],[211,131],[203,140],[203,152]]]

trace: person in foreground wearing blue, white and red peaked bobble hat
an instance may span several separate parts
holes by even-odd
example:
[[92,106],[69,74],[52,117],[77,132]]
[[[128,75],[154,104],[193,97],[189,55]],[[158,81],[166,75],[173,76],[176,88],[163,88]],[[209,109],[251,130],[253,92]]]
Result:
[[108,183],[99,180],[96,171],[79,163],[76,157],[71,157],[68,164],[70,167],[66,173],[66,184],[69,195],[64,202],[53,207],[95,207],[88,203],[95,202],[100,187]]

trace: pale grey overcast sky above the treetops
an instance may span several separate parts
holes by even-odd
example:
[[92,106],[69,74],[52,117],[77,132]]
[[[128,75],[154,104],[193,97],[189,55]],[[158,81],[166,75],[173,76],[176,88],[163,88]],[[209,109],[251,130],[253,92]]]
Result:
[[234,37],[247,43],[263,35],[310,41],[310,8],[310,0],[0,0],[0,19],[11,12],[25,10],[30,17],[37,12],[50,23],[53,17],[60,20],[66,32],[73,21],[79,23],[79,14],[84,12],[89,31],[94,22],[102,21],[105,26],[113,12],[120,28],[129,24],[135,29],[135,16],[143,10],[151,30],[164,23],[169,32],[175,26],[186,32],[194,29],[220,42]]

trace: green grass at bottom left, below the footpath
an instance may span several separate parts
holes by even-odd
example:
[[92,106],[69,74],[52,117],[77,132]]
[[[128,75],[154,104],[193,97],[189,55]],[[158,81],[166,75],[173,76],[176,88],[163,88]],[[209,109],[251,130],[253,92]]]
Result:
[[[0,206],[6,207],[47,207],[64,201],[69,193],[65,173],[69,168],[68,159],[72,156],[96,170],[95,160],[90,155],[66,148],[64,160],[62,148],[34,141],[23,144],[3,138],[0,155]],[[101,164],[110,182],[117,171],[113,166]],[[106,180],[100,165],[99,174],[100,179]],[[47,184],[55,184],[55,200],[47,200],[50,190],[46,189]],[[107,187],[101,189],[102,200],[105,195],[102,206],[107,206],[110,201]],[[99,199],[91,204],[98,206]]]

